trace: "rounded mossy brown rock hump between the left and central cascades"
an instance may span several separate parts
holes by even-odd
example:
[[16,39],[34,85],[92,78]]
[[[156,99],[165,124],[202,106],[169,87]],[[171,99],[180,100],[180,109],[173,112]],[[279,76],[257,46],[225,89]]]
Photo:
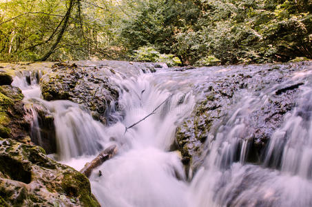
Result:
[[96,67],[86,70],[66,63],[57,63],[52,68],[53,71],[41,79],[44,99],[82,103],[99,121],[114,121],[108,110],[118,106],[118,91],[101,70]]

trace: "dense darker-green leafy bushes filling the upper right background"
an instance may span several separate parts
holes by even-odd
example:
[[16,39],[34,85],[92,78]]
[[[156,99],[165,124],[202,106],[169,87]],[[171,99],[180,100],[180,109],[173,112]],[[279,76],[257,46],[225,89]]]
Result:
[[[128,1],[125,1],[128,2]],[[139,1],[120,38],[151,45],[184,64],[264,63],[312,57],[311,1]]]

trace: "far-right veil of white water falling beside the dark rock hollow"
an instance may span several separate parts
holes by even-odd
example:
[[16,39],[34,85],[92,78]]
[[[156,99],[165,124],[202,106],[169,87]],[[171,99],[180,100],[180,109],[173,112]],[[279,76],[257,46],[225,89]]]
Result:
[[271,138],[266,166],[312,178],[312,88],[302,88],[298,106]]

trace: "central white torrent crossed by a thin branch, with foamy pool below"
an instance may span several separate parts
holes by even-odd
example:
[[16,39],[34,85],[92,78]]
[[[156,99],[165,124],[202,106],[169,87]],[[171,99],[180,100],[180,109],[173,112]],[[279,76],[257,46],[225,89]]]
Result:
[[[94,195],[104,206],[187,206],[183,166],[178,153],[167,150],[174,142],[176,125],[193,108],[194,97],[160,90],[153,75],[121,80],[118,84],[128,91],[121,91],[120,100],[126,117],[112,127],[118,126],[116,141],[123,146],[116,158],[98,168],[103,176],[92,175]],[[126,126],[158,106],[154,115],[125,132]]]

